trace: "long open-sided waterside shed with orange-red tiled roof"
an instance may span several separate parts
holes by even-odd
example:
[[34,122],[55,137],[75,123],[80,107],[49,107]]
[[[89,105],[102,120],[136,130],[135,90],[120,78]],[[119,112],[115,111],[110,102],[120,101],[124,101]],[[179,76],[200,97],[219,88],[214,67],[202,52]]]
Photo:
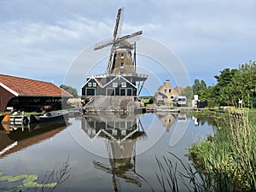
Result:
[[44,106],[57,110],[72,97],[53,83],[0,74],[0,112],[38,111]]

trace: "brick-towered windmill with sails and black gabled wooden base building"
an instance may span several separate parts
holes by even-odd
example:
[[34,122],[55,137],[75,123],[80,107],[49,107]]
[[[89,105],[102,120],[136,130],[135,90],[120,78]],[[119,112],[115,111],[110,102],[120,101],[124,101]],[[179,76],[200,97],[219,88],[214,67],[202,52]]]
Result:
[[108,103],[108,106],[100,105],[100,110],[127,109],[128,105],[123,106],[121,101],[124,99],[131,102],[137,100],[144,82],[148,79],[148,75],[136,72],[136,41],[143,32],[138,31],[121,37],[123,15],[124,10],[119,9],[113,30],[113,39],[97,44],[94,49],[111,46],[106,72],[94,77],[87,77],[86,83],[82,87],[82,102],[84,106],[87,105],[84,108],[90,108],[90,105],[95,107],[95,103]]

